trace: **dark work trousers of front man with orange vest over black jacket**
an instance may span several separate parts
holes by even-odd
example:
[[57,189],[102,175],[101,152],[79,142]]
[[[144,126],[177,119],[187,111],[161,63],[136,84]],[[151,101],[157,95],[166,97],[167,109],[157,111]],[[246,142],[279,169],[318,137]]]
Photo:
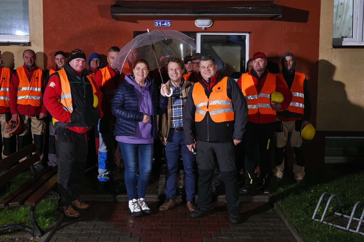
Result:
[[[222,181],[225,183],[225,199],[229,211],[240,210],[240,193],[235,165],[235,149],[233,141],[196,143],[196,161],[198,166],[198,198],[197,203],[203,209],[209,209],[212,200],[212,178],[218,162]],[[216,155],[216,159],[214,158]]]

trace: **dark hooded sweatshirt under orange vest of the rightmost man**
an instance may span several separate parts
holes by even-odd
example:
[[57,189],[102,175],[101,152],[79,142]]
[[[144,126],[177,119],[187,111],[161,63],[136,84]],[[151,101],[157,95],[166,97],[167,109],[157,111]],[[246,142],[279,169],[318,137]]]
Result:
[[[287,70],[284,66],[284,60],[285,57],[287,56],[291,56],[293,58],[293,65],[292,68],[290,70]],[[284,77],[288,89],[292,88],[292,84],[293,84],[293,80],[294,80],[294,74],[296,73],[296,59],[294,58],[294,55],[291,52],[286,52],[284,53],[284,55],[282,56],[281,59],[281,65],[282,65],[282,74]],[[311,112],[312,112],[312,108],[311,108],[311,98],[310,98],[310,93],[308,90],[308,84],[307,84],[307,80],[305,78],[304,82],[303,82],[303,94],[304,94],[304,114],[302,117],[302,114],[300,113],[294,113],[294,112],[290,112],[288,109],[284,110],[284,111],[280,111],[277,112],[277,117],[282,120],[282,121],[296,121],[296,120],[300,120],[303,118],[303,120],[305,121],[310,121],[311,118]]]

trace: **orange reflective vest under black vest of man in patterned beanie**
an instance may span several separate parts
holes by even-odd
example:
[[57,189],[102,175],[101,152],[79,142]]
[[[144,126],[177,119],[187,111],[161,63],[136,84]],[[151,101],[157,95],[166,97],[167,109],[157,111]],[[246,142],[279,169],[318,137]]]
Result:
[[[58,71],[59,78],[61,80],[61,86],[62,86],[62,93],[58,100],[58,102],[63,106],[63,109],[72,113],[73,107],[72,107],[72,95],[71,95],[71,86],[70,82],[68,81],[68,77],[66,74],[66,71],[64,69],[61,69]],[[94,80],[91,77],[91,74],[87,76],[87,79],[90,81],[92,85],[93,93],[96,93],[96,89],[94,86]],[[55,120],[56,122],[58,120]]]

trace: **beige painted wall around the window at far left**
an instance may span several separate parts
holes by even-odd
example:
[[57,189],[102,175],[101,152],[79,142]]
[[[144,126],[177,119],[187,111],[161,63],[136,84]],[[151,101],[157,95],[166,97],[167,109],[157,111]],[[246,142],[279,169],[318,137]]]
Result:
[[23,52],[32,49],[37,56],[37,66],[44,67],[43,0],[29,0],[30,46],[0,46],[5,66],[15,69],[24,64]]

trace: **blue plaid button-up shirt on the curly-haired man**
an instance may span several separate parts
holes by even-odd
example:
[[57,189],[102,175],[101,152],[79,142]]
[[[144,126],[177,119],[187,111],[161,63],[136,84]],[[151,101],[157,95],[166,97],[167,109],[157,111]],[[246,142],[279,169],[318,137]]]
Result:
[[171,96],[171,128],[179,128],[182,127],[182,114],[183,114],[183,108],[185,107],[185,102],[183,101],[182,96],[182,86],[183,82],[185,82],[182,79],[182,82],[178,85],[177,88],[175,88],[171,81],[169,81],[169,86],[172,87],[173,93]]

